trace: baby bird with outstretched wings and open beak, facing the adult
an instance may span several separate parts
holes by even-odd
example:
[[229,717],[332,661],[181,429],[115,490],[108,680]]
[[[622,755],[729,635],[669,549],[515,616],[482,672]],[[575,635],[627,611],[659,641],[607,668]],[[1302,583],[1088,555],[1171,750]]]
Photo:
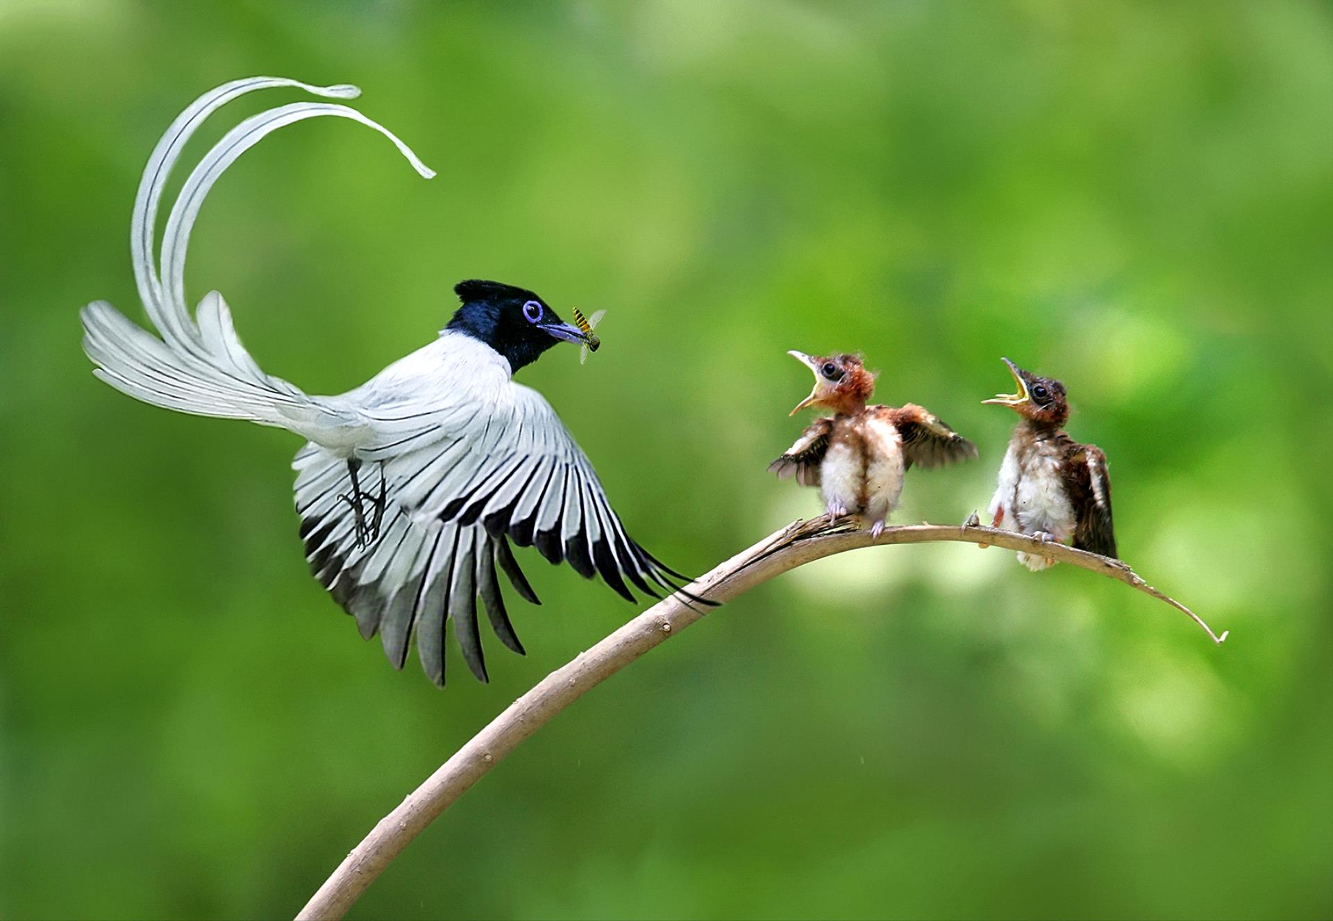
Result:
[[834,415],[814,420],[768,469],[780,477],[794,476],[802,486],[818,486],[829,518],[858,516],[878,537],[898,505],[908,468],[977,456],[974,444],[916,404],[901,409],[865,405],[874,392],[874,375],[857,356],[788,355],[814,372],[814,389],[792,415],[806,407]]

